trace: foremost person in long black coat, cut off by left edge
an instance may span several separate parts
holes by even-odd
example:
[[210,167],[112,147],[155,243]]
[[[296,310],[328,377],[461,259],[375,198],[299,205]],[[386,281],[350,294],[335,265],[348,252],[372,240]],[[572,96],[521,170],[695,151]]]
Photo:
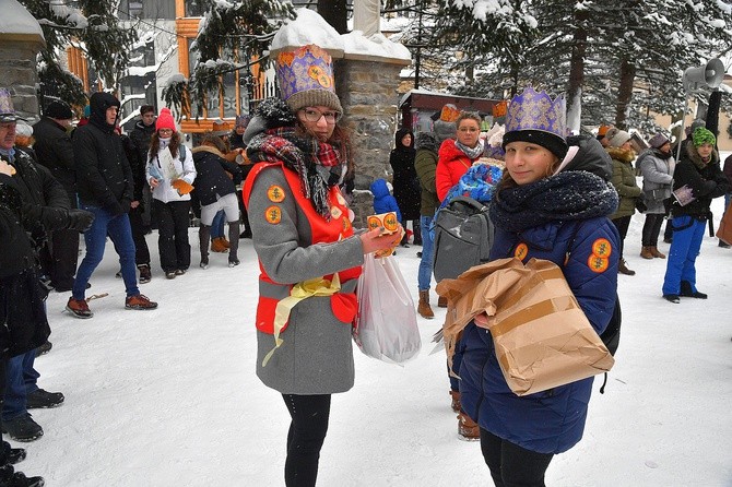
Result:
[[[21,223],[23,200],[12,174],[0,161],[0,397],[5,390],[8,358],[36,348],[50,334],[33,246]],[[2,420],[0,419],[0,428]],[[43,477],[26,478],[13,464],[25,459],[25,449],[0,442],[0,485],[38,486]]]

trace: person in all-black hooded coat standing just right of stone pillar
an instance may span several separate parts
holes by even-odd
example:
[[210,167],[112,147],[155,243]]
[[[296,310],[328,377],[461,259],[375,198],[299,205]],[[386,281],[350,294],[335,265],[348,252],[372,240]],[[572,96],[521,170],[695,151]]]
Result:
[[[414,169],[414,134],[410,129],[399,129],[394,135],[394,149],[389,156],[389,164],[394,171],[392,186],[394,198],[402,213],[402,226],[406,228],[406,222],[412,221],[414,231],[414,243],[422,245],[420,231],[420,204],[422,202],[422,188]],[[406,247],[408,238],[404,234],[401,245]]]

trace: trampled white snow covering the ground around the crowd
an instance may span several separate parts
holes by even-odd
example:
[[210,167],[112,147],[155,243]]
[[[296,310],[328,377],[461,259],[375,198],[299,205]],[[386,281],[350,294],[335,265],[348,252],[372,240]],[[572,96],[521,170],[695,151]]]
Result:
[[[722,199],[712,210],[718,222]],[[708,300],[661,298],[665,261],[638,257],[642,215],[626,239],[635,276],[619,276],[623,337],[604,395],[595,381],[582,441],[558,455],[550,486],[732,486],[732,250],[706,237],[697,261]],[[191,242],[197,242],[191,229]],[[241,265],[193,266],[167,281],[149,236],[154,311],[123,308],[111,245],[92,276],[95,317],[48,299],[54,349],[36,360],[39,385],[66,403],[34,411],[45,436],[17,465],[49,486],[280,486],[290,418],[280,395],[255,376],[257,261],[241,240]],[[669,245],[661,243],[661,251]],[[398,260],[416,300],[418,248]],[[433,302],[436,295],[433,292]],[[404,367],[356,351],[356,384],[333,397],[320,486],[492,485],[477,442],[457,438],[440,326],[420,319],[422,354]]]

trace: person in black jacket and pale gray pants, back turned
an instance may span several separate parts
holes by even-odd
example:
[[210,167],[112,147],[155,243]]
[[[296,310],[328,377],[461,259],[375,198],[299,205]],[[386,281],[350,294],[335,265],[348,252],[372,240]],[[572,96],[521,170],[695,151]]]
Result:
[[[228,222],[229,266],[239,262],[239,202],[236,185],[241,182],[241,170],[225,159],[226,144],[217,135],[208,134],[200,146],[193,149],[196,181],[193,195],[201,205],[199,246],[201,269],[209,266],[211,225],[217,212],[223,211]],[[229,176],[231,175],[231,176]]]

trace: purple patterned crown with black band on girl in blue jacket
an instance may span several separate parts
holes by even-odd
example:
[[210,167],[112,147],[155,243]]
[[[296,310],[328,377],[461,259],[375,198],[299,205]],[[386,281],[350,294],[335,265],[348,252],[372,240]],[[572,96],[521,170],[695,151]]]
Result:
[[567,153],[567,102],[564,95],[554,100],[546,92],[529,85],[508,105],[503,146],[513,141],[541,145],[557,157]]

